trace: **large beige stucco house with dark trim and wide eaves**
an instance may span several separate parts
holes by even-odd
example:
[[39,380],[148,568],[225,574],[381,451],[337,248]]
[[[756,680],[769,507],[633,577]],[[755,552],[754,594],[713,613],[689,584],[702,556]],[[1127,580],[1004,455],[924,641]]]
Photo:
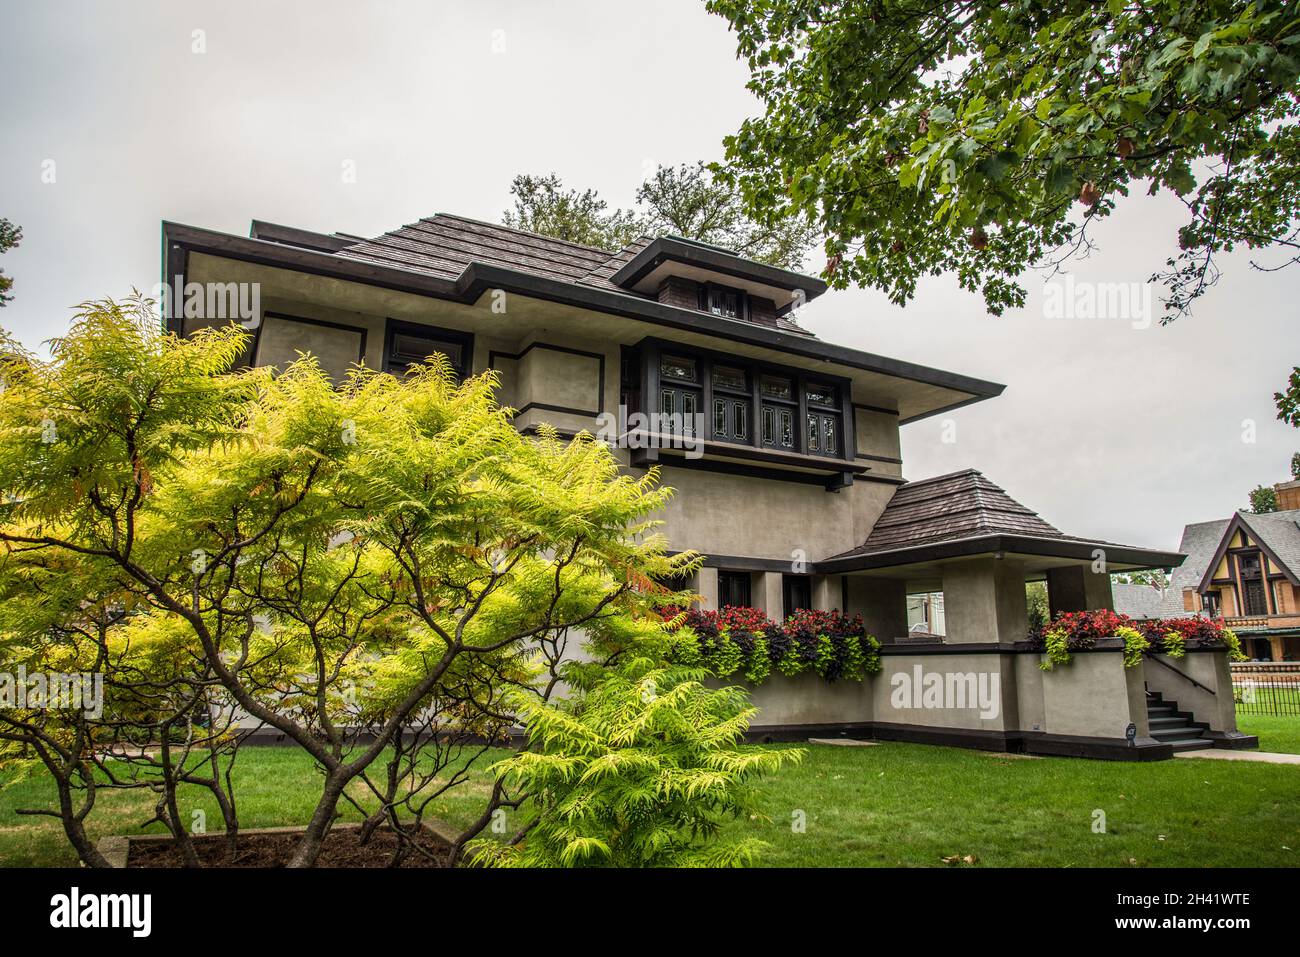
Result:
[[[757,736],[1171,753],[1118,640],[1040,670],[1024,586],[1045,580],[1054,611],[1109,609],[1109,572],[1182,555],[1065,534],[974,469],[906,481],[900,429],[1004,386],[824,342],[803,322],[822,281],[671,235],[598,250],[446,213],[370,239],[255,221],[248,237],[165,222],[162,241],[172,330],[229,321],[213,298],[256,302],[254,364],[309,351],[342,376],[439,352],[493,369],[520,430],[593,432],[628,469],[662,468],[663,531],[707,557],[705,605],[861,614],[881,671],[774,676]],[[909,637],[913,594],[939,596],[941,636]],[[1202,658],[1199,680],[1219,680],[1222,653]],[[890,693],[910,681],[945,693]],[[992,701],[963,694],[976,684]],[[1221,711],[1197,719],[1223,744]]]

